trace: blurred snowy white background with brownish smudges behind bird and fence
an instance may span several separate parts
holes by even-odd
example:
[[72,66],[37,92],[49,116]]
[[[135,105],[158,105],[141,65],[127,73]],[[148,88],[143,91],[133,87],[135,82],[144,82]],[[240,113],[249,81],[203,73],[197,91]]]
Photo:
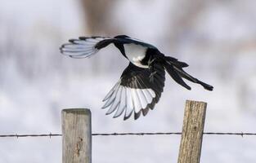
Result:
[[[256,132],[256,1],[1,0],[0,134],[61,133],[62,108],[90,108],[92,132],[182,130],[186,99],[208,103],[204,131]],[[101,99],[128,61],[113,46],[71,59],[70,38],[126,34],[159,47],[214,86],[170,77],[146,117],[105,116]],[[180,136],[93,137],[92,161],[177,162]],[[255,162],[256,140],[204,135],[201,162]],[[0,162],[61,162],[61,137],[0,139]]]

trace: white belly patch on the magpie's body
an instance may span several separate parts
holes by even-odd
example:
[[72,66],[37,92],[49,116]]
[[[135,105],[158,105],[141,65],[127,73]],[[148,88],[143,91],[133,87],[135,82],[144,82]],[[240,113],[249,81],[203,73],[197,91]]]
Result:
[[148,68],[147,65],[142,65],[141,60],[144,59],[146,55],[146,47],[136,44],[124,44],[124,51],[127,58],[140,68]]

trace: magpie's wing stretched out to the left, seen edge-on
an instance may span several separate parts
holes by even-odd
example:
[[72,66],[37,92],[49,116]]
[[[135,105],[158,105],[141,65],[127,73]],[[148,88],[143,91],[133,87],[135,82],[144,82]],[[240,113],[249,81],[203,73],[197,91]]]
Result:
[[101,48],[110,45],[115,39],[111,37],[79,37],[70,39],[69,43],[61,46],[60,51],[63,55],[72,58],[87,58],[96,54]]

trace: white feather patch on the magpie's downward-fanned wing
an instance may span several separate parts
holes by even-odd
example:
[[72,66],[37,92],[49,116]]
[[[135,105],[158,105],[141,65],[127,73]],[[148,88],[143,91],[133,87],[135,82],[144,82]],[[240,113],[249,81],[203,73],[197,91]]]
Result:
[[103,99],[105,104],[102,108],[109,108],[106,114],[115,112],[114,117],[119,117],[124,113],[124,119],[127,119],[132,112],[141,112],[155,98],[155,91],[150,88],[135,89],[121,86],[120,82],[118,81]]

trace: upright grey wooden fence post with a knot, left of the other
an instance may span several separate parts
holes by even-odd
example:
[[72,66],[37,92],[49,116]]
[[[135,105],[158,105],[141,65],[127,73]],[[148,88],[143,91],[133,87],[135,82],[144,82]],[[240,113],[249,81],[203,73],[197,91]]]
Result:
[[92,163],[91,111],[64,109],[62,119],[62,162]]

